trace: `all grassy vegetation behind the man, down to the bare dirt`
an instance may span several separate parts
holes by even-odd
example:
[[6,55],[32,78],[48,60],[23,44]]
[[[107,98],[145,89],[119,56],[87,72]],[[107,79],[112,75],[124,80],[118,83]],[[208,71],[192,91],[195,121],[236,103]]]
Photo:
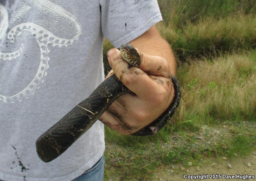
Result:
[[[179,62],[180,106],[171,123],[152,137],[105,128],[107,180],[148,180],[166,165],[232,158],[256,147],[256,1],[158,3],[164,21],[156,27]],[[104,65],[112,47],[104,40]]]

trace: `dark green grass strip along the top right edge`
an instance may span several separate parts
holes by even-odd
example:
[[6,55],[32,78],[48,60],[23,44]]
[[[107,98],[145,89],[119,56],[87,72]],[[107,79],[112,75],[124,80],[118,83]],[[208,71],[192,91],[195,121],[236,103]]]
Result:
[[212,17],[221,19],[236,14],[255,14],[255,0],[158,0],[164,24],[182,29],[187,23]]

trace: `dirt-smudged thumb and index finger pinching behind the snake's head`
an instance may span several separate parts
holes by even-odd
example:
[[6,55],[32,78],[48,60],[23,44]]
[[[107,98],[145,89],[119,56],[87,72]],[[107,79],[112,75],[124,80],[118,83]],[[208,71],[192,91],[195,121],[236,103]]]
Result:
[[[141,55],[141,52],[139,53]],[[121,57],[120,51],[111,49],[108,52],[108,61],[117,78],[143,100],[157,99],[158,103],[162,100],[161,95],[164,96],[169,89],[168,86],[171,85],[170,70],[164,58],[143,54],[140,68],[129,68],[128,63]],[[146,72],[150,72],[150,75]],[[159,89],[159,84],[163,89]]]

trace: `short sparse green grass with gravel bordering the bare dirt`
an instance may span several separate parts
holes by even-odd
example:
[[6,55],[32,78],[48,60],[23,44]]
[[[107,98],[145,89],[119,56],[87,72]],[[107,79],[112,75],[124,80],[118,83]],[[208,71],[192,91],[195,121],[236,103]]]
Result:
[[[151,180],[155,172],[179,163],[183,167],[188,162],[197,165],[205,158],[226,156],[232,159],[236,155],[248,155],[255,149],[255,125],[248,129],[248,123],[239,126],[244,134],[233,134],[229,126],[211,129],[211,134],[200,132],[173,132],[167,142],[148,142],[143,145],[107,144],[105,151],[105,179],[111,180]],[[227,125],[227,123],[226,123]],[[230,124],[231,125],[231,124]],[[237,128],[237,126],[234,126]],[[214,131],[221,132],[212,139]],[[198,140],[197,136],[204,138]],[[205,144],[206,143],[206,144]]]

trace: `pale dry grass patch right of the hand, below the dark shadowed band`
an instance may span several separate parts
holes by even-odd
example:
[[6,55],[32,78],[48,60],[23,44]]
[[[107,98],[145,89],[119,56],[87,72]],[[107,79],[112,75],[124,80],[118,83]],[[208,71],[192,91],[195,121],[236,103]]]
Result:
[[200,124],[255,120],[255,72],[255,51],[184,63],[178,69],[183,86],[175,119]]

